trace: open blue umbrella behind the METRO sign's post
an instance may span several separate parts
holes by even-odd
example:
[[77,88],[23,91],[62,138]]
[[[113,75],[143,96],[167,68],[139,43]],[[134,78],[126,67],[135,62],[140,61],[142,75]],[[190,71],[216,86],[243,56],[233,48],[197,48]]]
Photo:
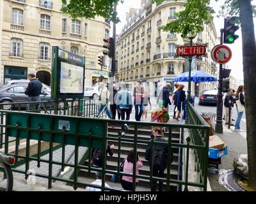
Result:
[[[188,82],[189,72],[173,78],[173,82]],[[217,78],[204,71],[191,71],[191,82],[217,82]]]

